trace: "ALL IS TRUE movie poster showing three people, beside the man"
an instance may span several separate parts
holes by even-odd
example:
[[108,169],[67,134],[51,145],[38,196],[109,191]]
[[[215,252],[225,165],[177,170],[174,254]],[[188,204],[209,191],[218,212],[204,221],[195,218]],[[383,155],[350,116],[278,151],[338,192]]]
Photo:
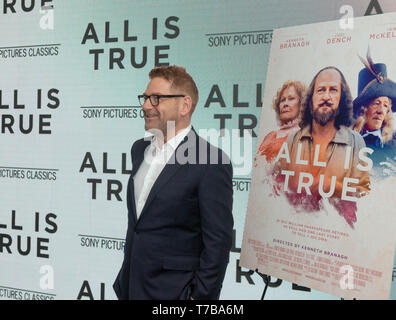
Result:
[[274,31],[241,266],[389,299],[395,52],[395,13]]

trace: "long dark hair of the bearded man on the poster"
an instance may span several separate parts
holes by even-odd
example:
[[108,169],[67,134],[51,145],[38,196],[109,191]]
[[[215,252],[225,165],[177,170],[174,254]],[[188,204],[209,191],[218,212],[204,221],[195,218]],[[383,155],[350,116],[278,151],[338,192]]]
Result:
[[352,95],[351,95],[351,90],[349,89],[349,86],[345,80],[344,75],[342,72],[336,68],[336,67],[325,67],[315,75],[313,78],[311,84],[309,85],[307,89],[307,93],[304,97],[304,101],[302,103],[302,116],[301,116],[301,122],[300,122],[300,127],[304,128],[307,125],[312,125],[312,96],[313,96],[313,91],[315,89],[315,83],[316,79],[319,76],[319,74],[328,69],[333,69],[336,70],[340,76],[341,76],[341,98],[340,98],[340,103],[338,105],[338,114],[335,117],[334,121],[334,126],[339,129],[341,125],[344,125],[346,127],[349,127],[352,124],[352,111],[353,111],[353,103],[352,103]]

